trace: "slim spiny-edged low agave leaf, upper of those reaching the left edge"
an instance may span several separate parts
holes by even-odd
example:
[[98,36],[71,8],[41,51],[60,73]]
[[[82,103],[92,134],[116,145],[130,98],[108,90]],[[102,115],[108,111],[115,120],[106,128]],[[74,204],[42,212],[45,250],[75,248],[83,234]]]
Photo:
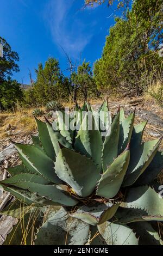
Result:
[[47,198],[40,197],[36,193],[22,190],[17,187],[7,187],[4,184],[1,185],[3,186],[5,191],[9,192],[10,194],[12,194],[12,196],[21,200],[24,204],[36,206],[55,205],[53,202],[47,200]]

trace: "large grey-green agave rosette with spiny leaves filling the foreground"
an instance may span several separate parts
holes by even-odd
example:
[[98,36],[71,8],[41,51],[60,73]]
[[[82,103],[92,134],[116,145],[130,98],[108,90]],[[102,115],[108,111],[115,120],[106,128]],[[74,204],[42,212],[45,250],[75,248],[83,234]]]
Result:
[[[20,221],[5,244],[20,244],[22,237],[30,243],[31,230],[35,245],[163,244],[157,231],[163,199],[155,180],[163,168],[161,139],[142,142],[146,122],[134,125],[135,112],[125,117],[123,108],[111,119],[108,110],[106,101],[96,113],[86,102],[76,105],[74,117],[58,114],[58,125],[36,120],[39,137],[32,145],[15,143],[22,164],[8,168],[11,177],[1,185],[19,203],[1,214]],[[73,129],[61,129],[67,117]]]

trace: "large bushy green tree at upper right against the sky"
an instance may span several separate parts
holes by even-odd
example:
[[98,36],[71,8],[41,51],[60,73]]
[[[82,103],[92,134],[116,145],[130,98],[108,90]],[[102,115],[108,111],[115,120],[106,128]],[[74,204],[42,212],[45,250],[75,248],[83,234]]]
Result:
[[161,17],[161,0],[136,0],[125,19],[116,18],[102,57],[95,63],[98,89],[139,95],[147,88],[148,74],[153,69],[159,73],[161,66],[156,52],[162,40]]

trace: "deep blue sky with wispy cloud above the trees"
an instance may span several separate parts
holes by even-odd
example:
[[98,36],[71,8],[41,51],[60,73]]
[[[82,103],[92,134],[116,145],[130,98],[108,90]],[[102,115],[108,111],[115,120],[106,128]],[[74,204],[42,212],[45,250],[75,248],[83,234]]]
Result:
[[[101,57],[105,36],[114,25],[115,6],[95,5],[81,10],[84,0],[1,0],[0,36],[20,57],[20,72],[13,78],[29,83],[29,70],[48,57],[59,59],[62,71],[67,59],[61,47],[78,64]],[[65,75],[68,75],[65,71]]]

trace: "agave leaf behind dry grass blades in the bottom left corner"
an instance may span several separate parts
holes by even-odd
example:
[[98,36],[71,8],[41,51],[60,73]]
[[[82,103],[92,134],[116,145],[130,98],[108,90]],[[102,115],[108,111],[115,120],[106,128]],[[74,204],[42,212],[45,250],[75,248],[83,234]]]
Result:
[[33,214],[25,214],[14,225],[3,245],[33,245],[34,233],[41,221],[40,211],[37,209],[34,209]]

